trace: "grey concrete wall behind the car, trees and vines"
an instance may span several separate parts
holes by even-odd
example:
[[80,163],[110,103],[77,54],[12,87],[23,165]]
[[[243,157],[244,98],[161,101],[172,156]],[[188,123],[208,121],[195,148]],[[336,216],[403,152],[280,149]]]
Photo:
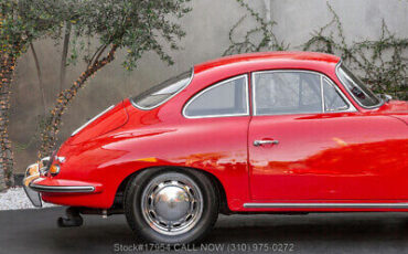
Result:
[[[394,43],[399,40],[404,44],[408,38],[408,1],[406,0],[330,0],[329,3],[334,13],[330,11],[326,0],[246,0],[245,2],[249,3],[249,8],[254,10],[254,13],[258,13],[259,18],[268,19],[270,17],[269,21],[273,22],[273,25],[268,29],[275,34],[275,42],[283,49],[303,50],[305,43],[326,24],[330,25],[321,34],[325,38],[332,38],[336,44],[342,45],[337,23],[331,22],[334,13],[339,17],[342,25],[347,49],[353,49],[354,43],[378,41],[382,34],[384,34],[385,43],[390,41]],[[266,3],[269,4],[269,8]],[[182,49],[171,52],[175,64],[168,66],[154,53],[148,53],[143,55],[137,70],[126,72],[120,65],[125,54],[118,52],[117,62],[90,80],[64,115],[60,140],[64,140],[87,119],[118,103],[121,98],[141,93],[148,87],[187,70],[193,64],[223,55],[232,45],[228,38],[232,28],[243,17],[246,18],[240,21],[232,34],[234,41],[243,41],[248,31],[259,27],[259,21],[254,19],[250,12],[241,7],[237,0],[193,0],[192,8],[193,11],[181,21],[186,31],[186,36],[181,43]],[[383,27],[383,20],[387,27]],[[393,39],[388,40],[389,36]],[[261,38],[262,32],[256,32],[250,40],[256,45],[259,43],[257,40],[261,40]],[[92,43],[93,39],[89,41]],[[311,42],[313,43],[310,43],[310,50],[328,49],[324,41]],[[269,46],[273,44],[273,41],[267,42],[267,44]],[[402,49],[402,44],[400,49]],[[34,45],[42,67],[45,98],[49,102],[46,107],[51,109],[52,102],[58,93],[56,84],[60,78],[62,43],[54,45],[53,42],[44,40],[34,42]],[[379,45],[382,45],[382,50],[386,49],[383,47],[384,44]],[[260,50],[267,50],[267,47],[264,46]],[[332,50],[335,54],[342,55],[342,49],[332,47]],[[407,52],[404,51],[396,56],[400,57],[405,65],[388,64],[390,60],[393,61],[393,51],[387,50],[383,53],[386,56],[384,59],[386,67],[379,68],[380,72],[375,73],[383,72],[384,75],[371,74],[367,75],[367,78],[374,81],[373,85],[380,84],[380,86],[383,84],[407,84],[407,81],[404,82],[401,78],[394,82],[395,76],[389,72],[393,68],[397,72],[404,70],[407,72]],[[355,53],[353,55],[358,56]],[[367,61],[371,61],[371,57],[367,56]],[[359,68],[358,65],[354,65],[354,67]],[[82,63],[67,67],[67,85],[72,84],[83,68]],[[373,70],[375,71],[375,68]],[[359,70],[358,73],[362,77],[366,76],[363,70]],[[378,82],[383,80],[389,82]],[[9,129],[15,157],[15,172],[22,172],[29,163],[36,159],[40,145],[37,141],[39,119],[44,112],[41,103],[42,95],[37,88],[34,59],[30,52],[21,59],[14,82]],[[406,89],[396,93],[399,97],[407,96]]]

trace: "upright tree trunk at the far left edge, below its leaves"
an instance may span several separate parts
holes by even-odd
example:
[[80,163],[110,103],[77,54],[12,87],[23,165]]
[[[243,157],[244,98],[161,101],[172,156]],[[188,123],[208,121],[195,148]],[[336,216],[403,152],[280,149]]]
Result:
[[0,55],[0,190],[14,184],[13,154],[9,138],[9,109],[11,82],[17,59],[7,53]]

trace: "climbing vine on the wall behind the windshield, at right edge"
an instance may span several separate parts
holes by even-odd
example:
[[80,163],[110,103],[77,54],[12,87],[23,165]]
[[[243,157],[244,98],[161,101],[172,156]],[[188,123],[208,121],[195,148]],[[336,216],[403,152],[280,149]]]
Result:
[[312,34],[303,50],[337,54],[376,93],[408,99],[408,39],[390,33],[383,20],[378,40],[353,42],[348,45],[339,15],[329,3],[328,8],[333,14],[332,20]]

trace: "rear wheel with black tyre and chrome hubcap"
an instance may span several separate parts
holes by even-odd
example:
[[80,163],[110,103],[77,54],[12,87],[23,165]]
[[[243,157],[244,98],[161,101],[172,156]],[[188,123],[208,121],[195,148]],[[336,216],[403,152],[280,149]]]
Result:
[[143,170],[129,181],[125,193],[130,227],[154,243],[197,241],[216,222],[218,207],[211,180],[194,170]]

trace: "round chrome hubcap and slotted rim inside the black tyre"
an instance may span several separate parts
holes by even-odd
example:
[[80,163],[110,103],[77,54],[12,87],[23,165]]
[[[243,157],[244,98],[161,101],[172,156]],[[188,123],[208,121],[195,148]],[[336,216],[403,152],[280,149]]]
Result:
[[149,182],[142,194],[144,220],[159,233],[178,235],[200,220],[202,193],[195,182],[181,173],[164,173]]

